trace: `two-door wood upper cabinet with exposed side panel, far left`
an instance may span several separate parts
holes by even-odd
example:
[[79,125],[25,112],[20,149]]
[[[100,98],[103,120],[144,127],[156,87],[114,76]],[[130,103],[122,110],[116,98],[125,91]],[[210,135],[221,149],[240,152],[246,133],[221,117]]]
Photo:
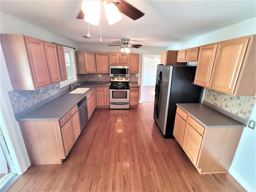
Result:
[[[0,34],[14,90],[36,90],[61,81],[56,45],[21,34]],[[64,53],[63,53],[64,57]]]

